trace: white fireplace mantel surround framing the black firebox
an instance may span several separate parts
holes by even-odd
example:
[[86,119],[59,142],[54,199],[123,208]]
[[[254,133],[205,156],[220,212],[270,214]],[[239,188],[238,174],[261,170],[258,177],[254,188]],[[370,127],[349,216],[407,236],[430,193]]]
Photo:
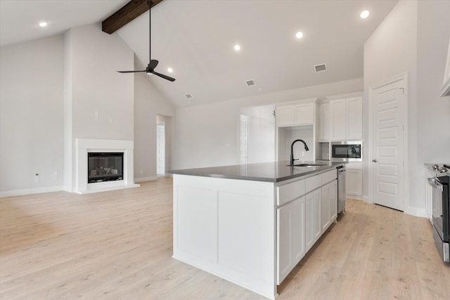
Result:
[[[122,140],[96,140],[88,138],[75,139],[75,193],[96,193],[105,190],[119,190],[122,188],[136,188],[140,186],[134,183],[133,174],[133,149],[134,141]],[[120,181],[105,181],[88,183],[87,153],[88,152],[123,152],[124,153],[124,178]]]

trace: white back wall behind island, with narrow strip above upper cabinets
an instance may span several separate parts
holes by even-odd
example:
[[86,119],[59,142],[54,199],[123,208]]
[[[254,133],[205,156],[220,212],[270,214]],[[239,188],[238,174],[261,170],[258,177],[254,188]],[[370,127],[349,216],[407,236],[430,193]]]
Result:
[[363,79],[350,79],[207,105],[184,107],[175,114],[174,169],[239,163],[241,107],[271,105],[289,100],[326,97],[363,89]]

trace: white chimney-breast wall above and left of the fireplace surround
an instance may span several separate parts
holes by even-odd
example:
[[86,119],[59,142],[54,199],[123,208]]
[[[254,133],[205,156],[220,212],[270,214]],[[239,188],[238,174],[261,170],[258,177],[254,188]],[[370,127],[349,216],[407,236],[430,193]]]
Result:
[[66,190],[75,186],[75,139],[133,140],[134,77],[117,73],[133,67],[133,51],[100,24],[65,34]]

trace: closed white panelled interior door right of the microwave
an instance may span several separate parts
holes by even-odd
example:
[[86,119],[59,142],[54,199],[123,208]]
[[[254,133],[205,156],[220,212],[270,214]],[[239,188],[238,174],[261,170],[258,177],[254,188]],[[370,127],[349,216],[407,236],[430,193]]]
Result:
[[406,79],[371,89],[373,202],[404,211]]

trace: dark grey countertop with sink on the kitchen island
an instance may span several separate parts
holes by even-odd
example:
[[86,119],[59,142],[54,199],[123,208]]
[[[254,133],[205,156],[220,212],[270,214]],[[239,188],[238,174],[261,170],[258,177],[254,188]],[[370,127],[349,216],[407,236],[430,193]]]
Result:
[[[300,162],[295,162],[300,164]],[[169,171],[170,174],[229,178],[249,181],[280,182],[288,179],[321,173],[347,164],[347,162],[305,162],[322,164],[318,167],[288,167],[288,161],[262,162],[259,164],[236,164],[233,166],[181,169]]]

